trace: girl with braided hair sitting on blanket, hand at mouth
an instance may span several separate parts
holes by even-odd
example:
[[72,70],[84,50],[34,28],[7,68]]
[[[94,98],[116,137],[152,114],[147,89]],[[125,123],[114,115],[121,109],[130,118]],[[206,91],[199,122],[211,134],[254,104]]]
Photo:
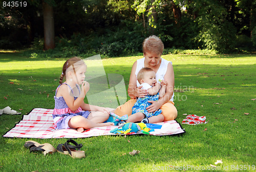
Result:
[[[78,57],[73,57],[64,63],[59,79],[60,85],[54,96],[55,107],[52,116],[55,129],[76,129],[78,132],[83,132],[93,127],[114,125],[112,122],[102,123],[109,118],[112,109],[83,102],[90,89],[89,83],[84,81],[86,69],[87,65]],[[66,81],[62,83],[64,77]]]

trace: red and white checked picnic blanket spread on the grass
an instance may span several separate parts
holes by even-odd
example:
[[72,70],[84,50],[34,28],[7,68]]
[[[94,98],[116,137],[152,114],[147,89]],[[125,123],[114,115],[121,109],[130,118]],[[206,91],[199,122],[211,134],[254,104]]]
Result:
[[[55,130],[52,118],[53,109],[34,108],[28,115],[24,115],[23,119],[3,137],[18,137],[18,138],[84,138],[101,135],[116,135],[110,133],[112,129],[118,126],[98,127],[85,130],[82,133],[74,129]],[[176,120],[170,120],[158,123],[159,125],[170,124],[172,128],[176,128],[176,132],[172,133],[154,133],[150,135],[175,135],[185,133],[180,124]]]

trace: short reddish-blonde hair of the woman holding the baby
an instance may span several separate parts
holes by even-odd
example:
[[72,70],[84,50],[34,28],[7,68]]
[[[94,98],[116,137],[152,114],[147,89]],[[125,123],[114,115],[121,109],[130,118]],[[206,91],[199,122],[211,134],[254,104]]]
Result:
[[163,48],[164,45],[162,40],[156,35],[152,35],[144,39],[142,43],[142,51],[144,54],[146,54],[147,52],[154,52],[162,55]]

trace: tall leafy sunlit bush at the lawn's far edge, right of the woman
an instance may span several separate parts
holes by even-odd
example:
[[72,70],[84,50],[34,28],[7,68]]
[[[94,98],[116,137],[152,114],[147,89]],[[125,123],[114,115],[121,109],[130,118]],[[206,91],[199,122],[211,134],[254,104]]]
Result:
[[218,53],[227,53],[234,50],[236,43],[236,28],[225,19],[227,9],[218,1],[202,1],[200,17],[197,18],[202,28],[197,39],[203,42],[205,48],[216,50]]

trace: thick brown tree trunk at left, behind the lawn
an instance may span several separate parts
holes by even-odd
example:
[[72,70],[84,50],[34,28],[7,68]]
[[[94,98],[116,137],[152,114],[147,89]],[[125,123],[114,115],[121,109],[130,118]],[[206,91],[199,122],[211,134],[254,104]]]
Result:
[[44,13],[45,50],[49,50],[55,47],[53,7],[43,1],[42,11]]

